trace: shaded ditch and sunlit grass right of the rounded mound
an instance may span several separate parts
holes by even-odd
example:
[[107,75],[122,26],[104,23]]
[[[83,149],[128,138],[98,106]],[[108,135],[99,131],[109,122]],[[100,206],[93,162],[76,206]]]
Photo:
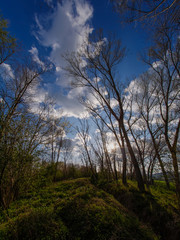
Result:
[[97,186],[112,194],[124,207],[134,213],[138,219],[152,227],[162,240],[180,239],[180,212],[174,185],[168,190],[163,181],[156,181],[150,191],[141,193],[137,183],[128,181],[99,182]]

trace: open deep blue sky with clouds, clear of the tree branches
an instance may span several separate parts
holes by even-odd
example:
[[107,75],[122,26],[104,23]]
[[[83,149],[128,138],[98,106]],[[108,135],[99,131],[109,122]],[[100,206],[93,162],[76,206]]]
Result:
[[[61,56],[79,49],[87,34],[101,28],[105,35],[113,32],[121,39],[127,48],[119,69],[124,82],[147,70],[139,59],[150,43],[147,32],[140,25],[122,25],[109,0],[5,0],[0,9],[9,22],[9,32],[33,61],[43,65],[47,58],[54,65],[54,73],[33,89],[35,100],[40,103],[46,96],[53,97],[57,116],[63,109],[69,121],[76,122],[86,113],[78,101],[81,90],[70,89],[71,79],[62,71],[65,62]],[[36,111],[38,105],[33,107]]]

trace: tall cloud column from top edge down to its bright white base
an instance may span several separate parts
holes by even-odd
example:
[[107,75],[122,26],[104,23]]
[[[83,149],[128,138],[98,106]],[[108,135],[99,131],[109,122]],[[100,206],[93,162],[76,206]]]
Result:
[[[48,4],[51,1],[46,0]],[[52,6],[52,5],[51,5]],[[83,90],[68,90],[71,80],[63,72],[65,60],[62,55],[67,52],[74,52],[81,48],[86,37],[92,32],[88,24],[93,16],[92,6],[85,0],[66,0],[57,3],[50,15],[35,16],[38,31],[35,36],[39,43],[50,49],[50,60],[56,69],[56,82],[48,84],[48,94],[62,107],[63,114],[69,117],[83,117],[83,107],[78,97]],[[38,51],[35,47],[30,50],[34,61],[41,63]],[[63,90],[66,88],[66,90]],[[86,113],[87,114],[87,113]]]

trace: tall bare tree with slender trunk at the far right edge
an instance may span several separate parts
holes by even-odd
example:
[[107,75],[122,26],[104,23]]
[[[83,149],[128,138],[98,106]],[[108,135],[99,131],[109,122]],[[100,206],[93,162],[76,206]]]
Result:
[[180,203],[180,178],[177,145],[180,129],[180,39],[178,32],[164,22],[156,29],[154,46],[146,63],[152,68],[157,85],[156,98],[161,119],[161,131],[171,154],[176,192]]

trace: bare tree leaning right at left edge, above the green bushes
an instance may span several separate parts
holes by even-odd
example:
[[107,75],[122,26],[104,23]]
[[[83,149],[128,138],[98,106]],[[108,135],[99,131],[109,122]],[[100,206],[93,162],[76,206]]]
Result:
[[32,62],[19,65],[13,75],[0,79],[0,97],[3,102],[3,119],[1,119],[0,140],[4,130],[8,127],[16,110],[25,102],[25,95],[34,84],[37,84],[42,74],[48,71],[47,67],[37,67]]

